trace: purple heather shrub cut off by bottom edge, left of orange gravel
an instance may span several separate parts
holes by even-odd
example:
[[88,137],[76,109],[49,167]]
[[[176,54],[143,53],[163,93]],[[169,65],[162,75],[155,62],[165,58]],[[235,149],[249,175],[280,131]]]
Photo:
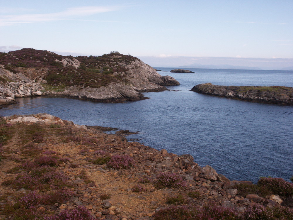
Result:
[[94,220],[91,212],[84,206],[78,206],[72,210],[64,210],[57,216],[46,217],[45,220]]

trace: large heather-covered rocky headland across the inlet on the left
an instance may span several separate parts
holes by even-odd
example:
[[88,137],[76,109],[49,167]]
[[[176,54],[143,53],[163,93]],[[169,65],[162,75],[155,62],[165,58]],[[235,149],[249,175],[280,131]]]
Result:
[[179,85],[136,57],[118,52],[99,57],[62,56],[45,50],[0,53],[0,104],[18,97],[59,95],[99,102],[146,99],[141,92]]

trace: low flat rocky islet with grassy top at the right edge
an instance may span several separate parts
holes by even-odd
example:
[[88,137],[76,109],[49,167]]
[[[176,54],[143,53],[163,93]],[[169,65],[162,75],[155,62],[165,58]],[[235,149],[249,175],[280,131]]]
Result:
[[218,86],[204,83],[194,86],[194,92],[268,104],[293,105],[293,88],[284,86]]

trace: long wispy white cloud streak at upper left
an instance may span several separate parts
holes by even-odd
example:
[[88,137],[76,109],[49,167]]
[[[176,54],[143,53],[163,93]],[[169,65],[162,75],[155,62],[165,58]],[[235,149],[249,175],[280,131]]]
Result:
[[16,23],[39,23],[48,21],[67,20],[76,17],[88,16],[103,12],[117,11],[119,6],[100,7],[85,6],[68,8],[64,11],[44,14],[23,14],[23,15],[6,15],[0,17],[0,26],[13,25]]

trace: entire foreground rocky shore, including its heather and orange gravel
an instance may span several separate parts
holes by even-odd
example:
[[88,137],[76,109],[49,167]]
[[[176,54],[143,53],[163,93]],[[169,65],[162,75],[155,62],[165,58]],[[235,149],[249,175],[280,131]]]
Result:
[[178,219],[177,213],[183,219],[204,209],[227,216],[209,219],[247,220],[255,207],[293,217],[293,184],[280,178],[264,178],[278,181],[268,189],[231,181],[191,155],[48,114],[5,117],[0,125],[1,219],[161,220]]

